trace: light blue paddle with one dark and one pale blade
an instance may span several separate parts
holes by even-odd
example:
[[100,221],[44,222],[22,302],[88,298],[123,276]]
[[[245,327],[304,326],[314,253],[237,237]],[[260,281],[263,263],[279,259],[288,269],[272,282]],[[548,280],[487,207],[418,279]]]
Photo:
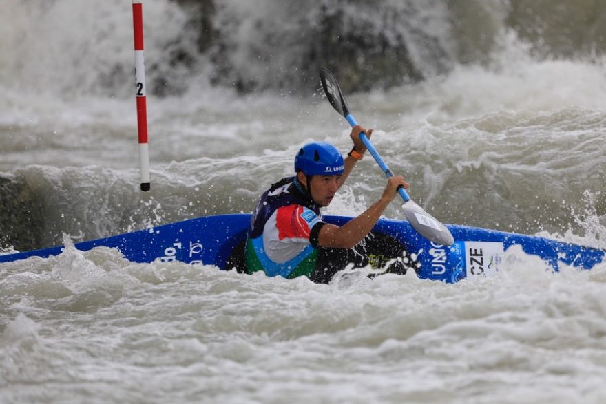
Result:
[[[339,114],[345,117],[347,122],[353,127],[357,125],[355,119],[349,112],[349,107],[341,92],[341,87],[339,87],[339,83],[337,79],[330,70],[326,69],[326,67],[320,67],[320,81],[322,82],[322,87],[324,87],[324,92],[326,93],[326,98],[330,101],[333,108],[337,110]],[[370,154],[373,155],[379,167],[385,173],[387,178],[393,177],[393,171],[387,167],[387,164],[383,161],[379,153],[375,149],[372,143],[370,143],[370,139],[364,132],[359,134],[360,139],[364,142],[364,145],[370,151]],[[428,240],[435,242],[437,244],[442,244],[445,246],[450,246],[454,243],[454,237],[448,231],[448,228],[438,222],[432,215],[424,211],[421,206],[415,203],[408,193],[404,190],[404,187],[398,188],[398,193],[404,200],[404,204],[402,204],[402,209],[404,210],[404,215],[406,215],[406,219],[410,222],[410,225],[415,228],[416,231],[419,232],[420,235],[426,237]]]

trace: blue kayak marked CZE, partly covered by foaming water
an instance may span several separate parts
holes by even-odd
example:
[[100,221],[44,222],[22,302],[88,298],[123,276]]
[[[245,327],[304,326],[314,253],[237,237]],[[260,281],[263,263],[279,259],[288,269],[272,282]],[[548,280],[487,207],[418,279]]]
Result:
[[[213,215],[184,220],[145,230],[76,243],[79,250],[97,246],[117,248],[131,262],[205,264],[226,269],[229,257],[246,238],[251,215]],[[351,217],[326,216],[328,223],[342,225]],[[485,277],[499,270],[510,246],[521,246],[541,257],[555,271],[561,265],[591,269],[603,262],[605,250],[558,242],[544,237],[519,235],[469,226],[447,226],[454,236],[452,246],[442,246],[422,237],[406,221],[382,219],[373,231],[395,238],[417,260],[417,275],[455,283],[466,278]],[[59,255],[63,246],[0,255],[0,262],[28,257]],[[227,268],[231,269],[231,268]]]

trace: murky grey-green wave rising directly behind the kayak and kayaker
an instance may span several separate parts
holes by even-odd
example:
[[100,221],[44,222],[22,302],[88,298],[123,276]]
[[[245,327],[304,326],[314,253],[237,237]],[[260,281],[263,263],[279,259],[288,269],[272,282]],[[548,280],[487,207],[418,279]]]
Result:
[[[603,247],[604,120],[584,109],[504,111],[373,138],[412,184],[413,198],[443,222],[577,242],[587,236],[587,244]],[[156,164],[151,192],[143,194],[136,169],[15,169],[0,177],[0,244],[31,249],[58,244],[63,233],[90,240],[200,215],[249,213],[269,184],[291,175],[294,153],[291,145],[260,156]],[[373,162],[361,164],[326,214],[357,215],[378,198],[384,180]],[[398,204],[385,215],[401,217]]]

